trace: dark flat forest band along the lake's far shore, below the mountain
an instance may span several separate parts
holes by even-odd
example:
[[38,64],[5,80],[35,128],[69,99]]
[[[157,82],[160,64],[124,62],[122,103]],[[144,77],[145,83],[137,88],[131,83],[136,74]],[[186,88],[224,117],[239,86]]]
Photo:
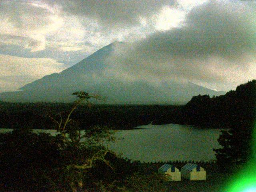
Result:
[[[0,102],[0,128],[26,126],[33,129],[53,129],[49,116],[58,118],[72,103],[8,103]],[[136,105],[92,105],[90,109],[81,106],[72,114],[81,128],[108,126],[113,129],[131,129],[138,125],[170,121],[180,106],[136,106]]]

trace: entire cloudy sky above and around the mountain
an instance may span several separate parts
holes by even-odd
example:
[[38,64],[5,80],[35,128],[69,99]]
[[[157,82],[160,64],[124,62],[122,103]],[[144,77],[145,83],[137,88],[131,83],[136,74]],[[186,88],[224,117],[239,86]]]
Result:
[[256,2],[0,0],[0,92],[114,41],[127,42],[109,59],[117,78],[234,89],[256,78]]

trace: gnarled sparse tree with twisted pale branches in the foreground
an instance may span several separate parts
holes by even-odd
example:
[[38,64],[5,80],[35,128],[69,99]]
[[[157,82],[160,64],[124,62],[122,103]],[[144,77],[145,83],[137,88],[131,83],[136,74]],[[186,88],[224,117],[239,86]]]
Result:
[[[74,106],[67,114],[66,118],[59,114],[59,120],[52,116],[50,118],[56,124],[59,133],[60,151],[64,160],[64,171],[66,178],[73,192],[86,191],[84,174],[94,166],[96,161],[102,161],[112,168],[105,156],[108,153],[114,154],[106,147],[106,142],[114,141],[112,132],[107,127],[94,126],[81,131],[75,120],[71,118],[72,113],[78,106],[87,105],[91,107],[90,99],[101,100],[98,95],[89,95],[86,92],[75,92],[78,97]],[[112,168],[113,169],[113,168]]]

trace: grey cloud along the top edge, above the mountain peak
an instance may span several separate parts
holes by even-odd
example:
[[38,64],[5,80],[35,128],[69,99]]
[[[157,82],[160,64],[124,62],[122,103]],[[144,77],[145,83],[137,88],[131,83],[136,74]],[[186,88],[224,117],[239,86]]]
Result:
[[158,13],[163,6],[173,6],[175,0],[46,0],[61,6],[65,12],[96,20],[108,28],[134,26],[140,18]]

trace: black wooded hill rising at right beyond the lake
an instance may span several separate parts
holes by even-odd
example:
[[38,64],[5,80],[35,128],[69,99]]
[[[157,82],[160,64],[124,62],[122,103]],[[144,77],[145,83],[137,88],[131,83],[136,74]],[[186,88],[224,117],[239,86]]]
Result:
[[194,96],[176,116],[178,124],[234,128],[251,126],[255,117],[256,80],[222,96]]

